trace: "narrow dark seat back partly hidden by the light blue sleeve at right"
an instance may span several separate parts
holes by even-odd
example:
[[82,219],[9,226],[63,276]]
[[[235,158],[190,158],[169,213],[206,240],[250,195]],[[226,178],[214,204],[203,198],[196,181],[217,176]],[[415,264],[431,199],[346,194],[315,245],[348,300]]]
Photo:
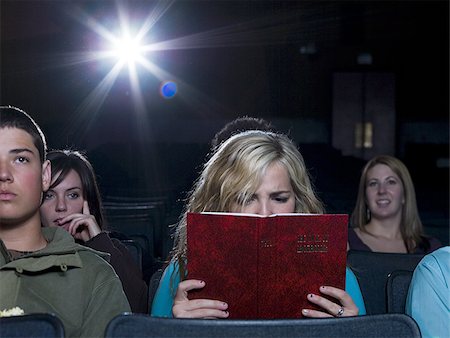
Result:
[[412,271],[395,270],[388,276],[386,284],[388,313],[405,313],[406,297],[412,275]]

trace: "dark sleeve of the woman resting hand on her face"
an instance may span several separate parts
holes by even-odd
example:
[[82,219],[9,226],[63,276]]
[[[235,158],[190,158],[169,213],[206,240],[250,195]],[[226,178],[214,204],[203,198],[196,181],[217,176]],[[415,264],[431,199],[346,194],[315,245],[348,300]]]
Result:
[[148,313],[147,284],[143,279],[141,270],[125,245],[116,238],[110,238],[106,232],[99,233],[84,245],[111,255],[109,263],[122,282],[131,311]]

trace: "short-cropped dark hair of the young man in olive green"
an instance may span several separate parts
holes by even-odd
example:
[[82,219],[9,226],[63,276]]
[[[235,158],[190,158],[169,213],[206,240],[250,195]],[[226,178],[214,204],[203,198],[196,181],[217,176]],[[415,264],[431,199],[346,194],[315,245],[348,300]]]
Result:
[[47,152],[47,142],[44,133],[33,118],[22,109],[13,106],[0,106],[0,129],[17,128],[26,131],[33,139],[39,151],[41,163],[44,163]]

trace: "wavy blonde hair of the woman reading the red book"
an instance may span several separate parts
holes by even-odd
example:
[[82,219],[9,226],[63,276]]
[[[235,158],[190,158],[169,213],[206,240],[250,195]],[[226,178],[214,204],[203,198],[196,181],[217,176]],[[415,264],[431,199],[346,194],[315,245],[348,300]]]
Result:
[[177,225],[171,257],[179,264],[182,279],[185,276],[187,212],[229,212],[236,202],[244,205],[274,162],[282,164],[288,172],[295,194],[295,212],[324,213],[303,156],[287,136],[256,130],[236,134],[222,143],[205,163]]

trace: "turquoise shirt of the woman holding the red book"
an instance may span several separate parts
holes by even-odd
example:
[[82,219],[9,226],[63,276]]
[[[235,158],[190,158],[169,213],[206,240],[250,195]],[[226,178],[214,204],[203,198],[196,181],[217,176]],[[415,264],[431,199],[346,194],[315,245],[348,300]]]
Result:
[[[174,273],[175,272],[175,273]],[[171,280],[172,278],[172,280]],[[178,264],[171,262],[161,277],[158,290],[156,291],[151,315],[154,317],[172,317],[173,299],[180,283],[180,274]],[[171,287],[172,285],[172,287]],[[359,308],[359,314],[366,314],[366,307],[362,298],[358,281],[353,272],[347,268],[345,275],[345,291],[352,297],[356,306]]]

